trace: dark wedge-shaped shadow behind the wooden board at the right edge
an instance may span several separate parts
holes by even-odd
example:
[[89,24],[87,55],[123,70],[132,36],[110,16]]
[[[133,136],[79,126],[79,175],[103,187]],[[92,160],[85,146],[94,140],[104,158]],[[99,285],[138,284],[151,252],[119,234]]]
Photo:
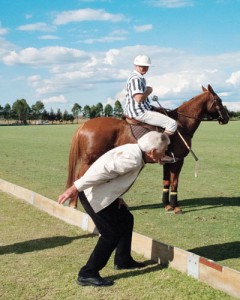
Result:
[[230,242],[225,244],[209,245],[204,247],[197,247],[190,250],[189,252],[195,253],[199,256],[207,257],[214,261],[221,261],[231,258],[240,257],[240,242]]

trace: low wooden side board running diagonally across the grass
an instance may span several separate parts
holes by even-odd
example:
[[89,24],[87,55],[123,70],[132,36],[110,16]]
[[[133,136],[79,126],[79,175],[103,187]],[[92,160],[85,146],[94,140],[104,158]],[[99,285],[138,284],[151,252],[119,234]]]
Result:
[[[59,205],[28,189],[0,179],[0,190],[9,193],[48,214],[90,233],[98,234],[91,218],[83,212]],[[240,299],[240,272],[221,266],[194,253],[173,247],[150,237],[133,233],[132,250],[159,264],[170,266]]]

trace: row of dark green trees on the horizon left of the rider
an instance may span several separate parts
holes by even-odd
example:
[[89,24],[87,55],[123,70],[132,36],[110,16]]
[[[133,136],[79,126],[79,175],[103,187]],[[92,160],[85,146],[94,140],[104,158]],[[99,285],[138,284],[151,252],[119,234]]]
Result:
[[114,106],[107,104],[105,107],[102,103],[96,105],[85,105],[82,107],[75,103],[69,113],[67,110],[63,112],[57,109],[55,112],[52,108],[47,111],[42,101],[37,101],[32,106],[29,106],[25,99],[16,100],[11,106],[7,103],[5,106],[0,104],[0,118],[9,122],[15,120],[18,124],[35,123],[38,121],[44,122],[73,122],[75,119],[78,123],[78,118],[92,119],[96,117],[116,117],[121,118],[123,108],[119,100],[114,103]]

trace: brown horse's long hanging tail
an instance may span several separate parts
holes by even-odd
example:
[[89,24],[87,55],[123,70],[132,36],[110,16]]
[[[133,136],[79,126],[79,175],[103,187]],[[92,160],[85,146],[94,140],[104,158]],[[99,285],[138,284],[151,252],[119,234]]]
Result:
[[[82,127],[82,126],[81,126]],[[73,182],[77,179],[77,166],[79,165],[80,160],[80,145],[79,145],[79,131],[81,129],[79,127],[75,134],[73,135],[69,157],[68,157],[68,178],[66,183],[66,188],[72,186]]]

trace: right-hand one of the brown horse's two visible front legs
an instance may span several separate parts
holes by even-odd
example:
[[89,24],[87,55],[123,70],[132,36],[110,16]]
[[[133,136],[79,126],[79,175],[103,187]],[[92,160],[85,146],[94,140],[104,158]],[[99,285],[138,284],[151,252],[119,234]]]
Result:
[[180,160],[170,166],[170,206],[175,214],[183,213],[178,203],[178,183],[183,162],[184,160]]

